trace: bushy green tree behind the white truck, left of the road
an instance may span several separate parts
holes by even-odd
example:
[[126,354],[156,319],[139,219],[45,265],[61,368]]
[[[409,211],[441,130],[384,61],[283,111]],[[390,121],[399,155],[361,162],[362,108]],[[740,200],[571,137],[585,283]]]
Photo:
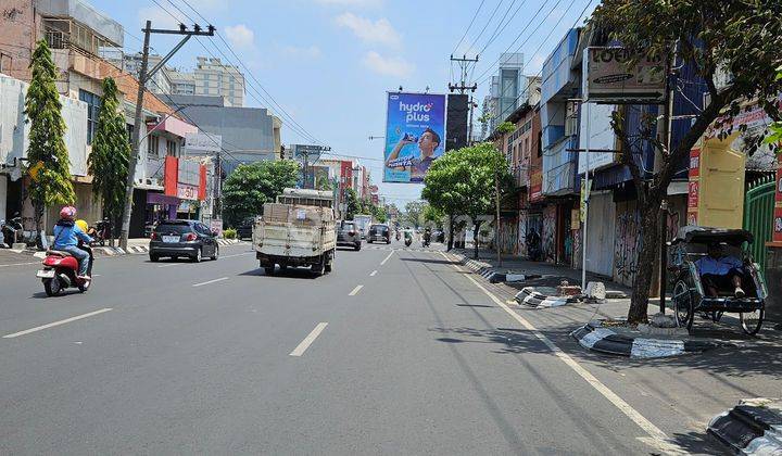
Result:
[[299,163],[292,160],[239,165],[223,185],[226,221],[236,226],[247,217],[261,215],[264,203],[295,186],[298,177]]

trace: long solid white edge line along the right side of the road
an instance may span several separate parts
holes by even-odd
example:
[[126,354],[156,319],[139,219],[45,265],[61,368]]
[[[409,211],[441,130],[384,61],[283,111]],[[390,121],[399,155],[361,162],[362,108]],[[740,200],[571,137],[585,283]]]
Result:
[[[440,254],[445,259],[452,261],[451,258],[445,256],[444,253],[440,252]],[[462,269],[456,264],[452,264],[452,266],[459,273],[469,273],[468,270]],[[518,321],[524,328],[532,332],[532,334],[538,338],[538,340],[543,342],[543,344],[545,344],[556,357],[558,357],[563,363],[565,363],[569,368],[571,368],[576,373],[578,373],[582,379],[584,379],[590,385],[592,385],[592,388],[597,390],[598,393],[601,393],[605,398],[607,398],[611,404],[614,404],[614,406],[616,406],[621,413],[623,413],[628,418],[630,418],[635,425],[643,429],[649,435],[649,439],[645,439],[644,443],[649,444],[651,446],[656,446],[658,449],[661,449],[668,454],[676,454],[679,451],[682,452],[681,454],[685,454],[682,448],[671,443],[665,432],[663,432],[658,427],[653,425],[652,421],[647,420],[643,415],[635,410],[630,404],[625,402],[625,400],[619,397],[618,394],[611,391],[603,382],[597,380],[595,376],[593,376],[589,370],[578,364],[578,362],[570,357],[570,355],[563,352],[559,346],[552,342],[552,340],[548,339],[545,334],[540,332],[538,328],[535,328],[526,318],[512,311],[510,307],[507,306],[507,304],[505,304],[502,300],[495,296],[494,293],[487,290],[482,284],[480,284],[476,279],[474,279],[470,274],[465,274],[464,277],[469,279],[469,281],[471,281],[480,291],[482,291],[487,296],[494,301],[496,305],[502,307],[503,311],[510,315],[510,317]]]

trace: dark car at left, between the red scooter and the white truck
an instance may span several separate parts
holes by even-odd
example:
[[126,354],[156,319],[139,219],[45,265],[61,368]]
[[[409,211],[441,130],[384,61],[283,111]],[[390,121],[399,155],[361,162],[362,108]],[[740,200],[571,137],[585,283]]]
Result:
[[150,261],[162,256],[177,259],[187,256],[198,263],[203,257],[217,259],[217,236],[198,220],[163,220],[150,237]]

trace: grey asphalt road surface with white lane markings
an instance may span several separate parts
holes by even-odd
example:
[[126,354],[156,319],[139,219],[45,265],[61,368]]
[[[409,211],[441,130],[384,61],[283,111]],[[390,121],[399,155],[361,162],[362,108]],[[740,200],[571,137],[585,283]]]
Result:
[[437,248],[340,250],[320,278],[249,244],[99,258],[60,297],[36,269],[0,269],[0,334],[40,328],[0,339],[0,454],[628,455],[685,431]]

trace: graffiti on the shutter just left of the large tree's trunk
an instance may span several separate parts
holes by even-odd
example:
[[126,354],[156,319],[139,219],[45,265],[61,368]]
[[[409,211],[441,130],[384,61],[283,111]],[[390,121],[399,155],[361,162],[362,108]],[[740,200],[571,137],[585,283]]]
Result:
[[614,280],[632,286],[638,273],[641,251],[641,213],[633,203],[617,204],[616,248],[614,250]]

